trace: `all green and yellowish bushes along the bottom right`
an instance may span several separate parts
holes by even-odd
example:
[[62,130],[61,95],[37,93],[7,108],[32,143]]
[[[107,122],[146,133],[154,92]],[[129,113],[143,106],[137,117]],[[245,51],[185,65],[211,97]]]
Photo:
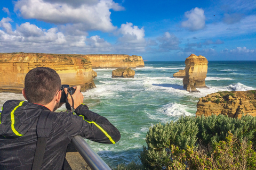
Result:
[[256,118],[181,117],[149,128],[141,164],[116,169],[256,169]]

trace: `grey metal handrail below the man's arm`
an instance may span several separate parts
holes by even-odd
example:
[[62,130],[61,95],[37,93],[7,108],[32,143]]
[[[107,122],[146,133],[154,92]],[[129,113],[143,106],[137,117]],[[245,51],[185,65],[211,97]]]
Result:
[[110,167],[101,159],[101,157],[88,145],[88,143],[81,136],[73,137],[71,142],[92,170],[111,170]]

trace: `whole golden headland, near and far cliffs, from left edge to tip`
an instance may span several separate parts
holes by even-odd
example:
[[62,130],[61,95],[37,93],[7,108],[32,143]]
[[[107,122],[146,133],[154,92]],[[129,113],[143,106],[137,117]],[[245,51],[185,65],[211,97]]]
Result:
[[45,54],[0,53],[0,92],[20,93],[27,72],[46,66],[57,71],[62,84],[81,86],[81,91],[95,88],[93,68],[144,67],[141,56],[118,54]]

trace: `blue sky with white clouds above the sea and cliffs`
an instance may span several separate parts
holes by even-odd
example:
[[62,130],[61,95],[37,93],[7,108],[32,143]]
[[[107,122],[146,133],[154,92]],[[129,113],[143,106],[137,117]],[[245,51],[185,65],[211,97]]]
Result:
[[256,60],[256,0],[1,0],[0,53]]

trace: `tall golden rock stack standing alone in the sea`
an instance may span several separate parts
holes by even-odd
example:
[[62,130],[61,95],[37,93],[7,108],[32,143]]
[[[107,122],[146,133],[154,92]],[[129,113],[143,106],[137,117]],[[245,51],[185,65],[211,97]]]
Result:
[[205,78],[207,74],[207,59],[202,56],[191,54],[185,61],[186,75],[183,79],[183,88],[189,92],[198,91],[196,88],[207,88]]

